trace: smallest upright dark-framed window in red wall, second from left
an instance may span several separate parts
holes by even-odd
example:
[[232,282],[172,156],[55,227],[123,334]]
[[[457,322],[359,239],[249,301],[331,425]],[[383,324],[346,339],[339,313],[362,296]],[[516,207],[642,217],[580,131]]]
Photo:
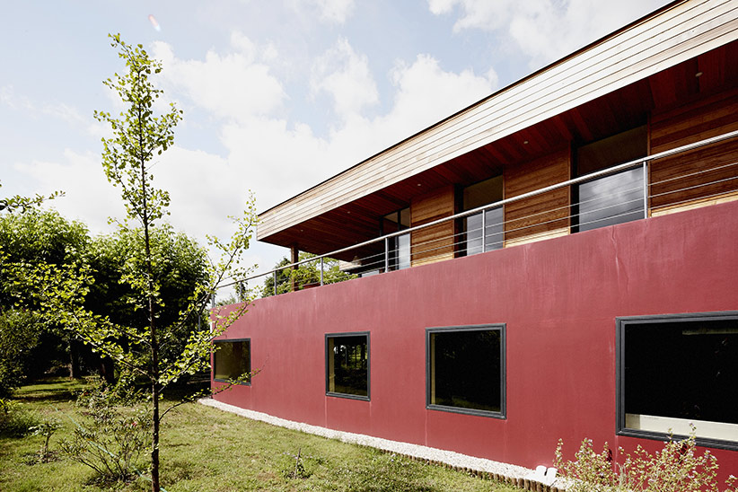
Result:
[[369,400],[369,332],[325,336],[325,392]]

